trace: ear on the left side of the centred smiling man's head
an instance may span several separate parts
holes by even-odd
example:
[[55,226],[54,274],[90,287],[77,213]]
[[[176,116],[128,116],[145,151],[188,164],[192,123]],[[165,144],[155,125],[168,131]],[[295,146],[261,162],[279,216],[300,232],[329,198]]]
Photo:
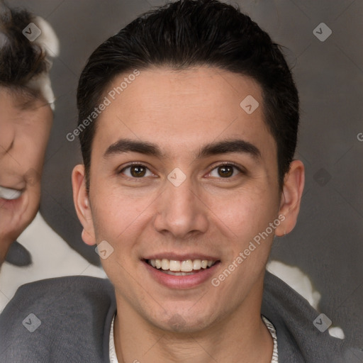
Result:
[[84,165],[76,165],[72,172],[73,202],[79,221],[83,225],[82,240],[86,245],[95,245],[94,223],[86,191]]

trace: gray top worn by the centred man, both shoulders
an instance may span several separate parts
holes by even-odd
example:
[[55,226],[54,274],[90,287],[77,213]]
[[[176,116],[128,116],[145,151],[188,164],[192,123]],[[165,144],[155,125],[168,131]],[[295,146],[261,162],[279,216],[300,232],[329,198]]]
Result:
[[[109,362],[115,313],[114,290],[107,279],[60,277],[23,285],[0,315],[0,362]],[[354,362],[343,358],[342,340],[315,328],[319,313],[269,272],[262,314],[277,330],[280,363]]]

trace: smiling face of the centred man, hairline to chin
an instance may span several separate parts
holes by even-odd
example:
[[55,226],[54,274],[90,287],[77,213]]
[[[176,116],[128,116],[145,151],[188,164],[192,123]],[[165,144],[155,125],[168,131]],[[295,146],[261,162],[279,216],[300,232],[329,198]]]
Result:
[[[252,113],[245,110],[253,99],[240,106],[247,96],[259,104]],[[278,218],[280,194],[257,82],[207,67],[150,69],[108,99],[96,121],[83,235],[89,244],[106,241],[101,262],[118,306],[162,329],[188,331],[230,317],[243,302],[259,311],[253,304],[274,232],[255,249],[250,242]],[[169,269],[191,260],[181,265],[196,270],[163,272],[150,266],[155,259]],[[230,274],[218,278],[225,269]]]

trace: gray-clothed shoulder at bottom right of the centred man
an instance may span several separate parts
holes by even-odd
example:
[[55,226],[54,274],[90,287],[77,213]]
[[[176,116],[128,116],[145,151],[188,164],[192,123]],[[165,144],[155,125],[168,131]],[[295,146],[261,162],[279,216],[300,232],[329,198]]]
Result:
[[305,298],[269,272],[264,279],[262,314],[277,330],[281,362],[343,362],[339,358],[342,340],[331,337],[328,330],[320,331],[323,327],[319,330],[318,325],[314,325],[320,314]]

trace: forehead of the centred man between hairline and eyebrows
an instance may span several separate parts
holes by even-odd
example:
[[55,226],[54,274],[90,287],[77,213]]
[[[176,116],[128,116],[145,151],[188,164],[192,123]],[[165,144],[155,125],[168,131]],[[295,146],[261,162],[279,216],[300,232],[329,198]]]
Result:
[[271,138],[261,88],[250,77],[210,67],[130,74],[119,75],[106,89],[109,102],[97,120],[95,140],[144,139],[194,150],[218,138]]

